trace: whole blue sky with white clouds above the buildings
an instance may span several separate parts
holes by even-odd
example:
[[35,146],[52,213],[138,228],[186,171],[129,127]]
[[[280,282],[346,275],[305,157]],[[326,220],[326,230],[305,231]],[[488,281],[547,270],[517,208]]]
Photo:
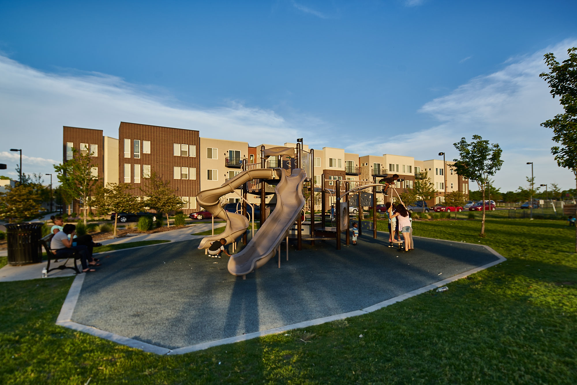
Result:
[[25,172],[50,172],[63,125],[116,137],[121,120],[418,159],[455,157],[452,143],[481,134],[505,150],[497,185],[525,184],[534,160],[538,182],[574,187],[539,127],[560,109],[538,73],[544,52],[577,45],[576,10],[574,1],[0,2],[9,142],[0,162],[13,164],[6,150],[21,146]]

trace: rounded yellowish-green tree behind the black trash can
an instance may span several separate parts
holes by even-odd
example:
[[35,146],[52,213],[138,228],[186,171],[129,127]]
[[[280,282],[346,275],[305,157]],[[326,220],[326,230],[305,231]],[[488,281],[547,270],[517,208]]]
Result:
[[13,221],[24,221],[38,217],[42,197],[34,187],[18,184],[9,187],[7,192],[0,192],[0,218]]

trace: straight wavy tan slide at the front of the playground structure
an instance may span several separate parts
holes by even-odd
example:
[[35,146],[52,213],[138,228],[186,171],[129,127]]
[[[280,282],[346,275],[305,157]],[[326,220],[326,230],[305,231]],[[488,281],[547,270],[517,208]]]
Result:
[[301,215],[302,207],[305,206],[305,198],[302,196],[305,172],[295,168],[291,175],[287,175],[286,171],[290,170],[282,170],[280,182],[275,188],[275,210],[249,244],[241,252],[230,257],[228,260],[230,274],[245,275],[267,263],[275,255],[276,248],[286,237],[297,216]]

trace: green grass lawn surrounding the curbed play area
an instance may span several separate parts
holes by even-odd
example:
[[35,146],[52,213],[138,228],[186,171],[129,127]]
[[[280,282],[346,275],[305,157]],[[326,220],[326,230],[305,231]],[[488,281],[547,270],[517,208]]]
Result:
[[[564,224],[489,220],[481,242],[508,261],[447,292],[183,356],[55,326],[72,278],[4,282],[0,383],[575,384],[575,231]],[[479,221],[414,223],[415,235],[471,243],[479,229]]]

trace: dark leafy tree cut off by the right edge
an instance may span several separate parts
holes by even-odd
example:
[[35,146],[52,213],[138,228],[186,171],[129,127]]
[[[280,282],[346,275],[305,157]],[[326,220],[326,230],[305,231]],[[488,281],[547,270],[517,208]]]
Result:
[[[567,50],[569,55],[563,63],[549,52],[545,54],[545,63],[550,72],[544,72],[539,77],[549,84],[550,94],[559,96],[564,113],[557,114],[553,119],[541,123],[542,127],[553,130],[553,141],[559,144],[551,148],[559,167],[568,168],[575,176],[577,186],[577,47]],[[577,215],[577,206],[576,212]],[[575,252],[577,252],[577,226],[575,227]]]

